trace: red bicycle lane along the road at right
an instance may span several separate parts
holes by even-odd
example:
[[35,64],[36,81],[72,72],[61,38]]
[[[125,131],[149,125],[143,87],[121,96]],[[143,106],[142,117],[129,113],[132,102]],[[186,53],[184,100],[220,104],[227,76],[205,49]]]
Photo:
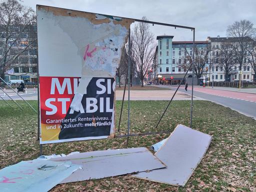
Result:
[[[191,87],[189,87],[188,89],[191,90]],[[194,87],[193,90],[207,93],[207,94],[213,94],[217,96],[224,96],[229,98],[236,98],[236,99],[256,102],[256,94],[253,94],[253,93],[236,92],[236,91],[212,89],[212,88],[205,88],[205,87]]]

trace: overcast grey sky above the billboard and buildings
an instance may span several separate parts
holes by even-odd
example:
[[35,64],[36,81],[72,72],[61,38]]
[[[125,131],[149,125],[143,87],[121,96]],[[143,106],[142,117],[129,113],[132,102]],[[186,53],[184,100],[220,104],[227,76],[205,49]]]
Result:
[[[226,36],[226,27],[235,20],[247,19],[256,27],[256,0],[23,0],[35,9],[36,4],[70,8],[195,27],[195,40],[207,36]],[[156,35],[174,35],[173,40],[192,40],[189,29],[154,25]]]

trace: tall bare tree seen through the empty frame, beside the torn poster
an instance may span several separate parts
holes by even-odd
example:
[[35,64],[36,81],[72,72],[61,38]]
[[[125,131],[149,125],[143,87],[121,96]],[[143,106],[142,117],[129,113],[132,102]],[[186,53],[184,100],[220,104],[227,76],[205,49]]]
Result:
[[[147,20],[145,16],[142,20]],[[153,34],[149,30],[149,24],[140,22],[135,25],[132,33],[132,57],[136,63],[137,75],[140,78],[141,86],[143,80],[152,67],[154,56]]]

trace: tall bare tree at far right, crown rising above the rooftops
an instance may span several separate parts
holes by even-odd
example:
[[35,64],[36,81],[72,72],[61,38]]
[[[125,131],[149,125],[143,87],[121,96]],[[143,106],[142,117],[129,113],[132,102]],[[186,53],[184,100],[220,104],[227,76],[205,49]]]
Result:
[[227,26],[227,36],[234,38],[234,57],[239,63],[239,70],[242,68],[244,58],[246,57],[246,47],[252,41],[251,36],[255,33],[253,23],[249,20],[235,21]]

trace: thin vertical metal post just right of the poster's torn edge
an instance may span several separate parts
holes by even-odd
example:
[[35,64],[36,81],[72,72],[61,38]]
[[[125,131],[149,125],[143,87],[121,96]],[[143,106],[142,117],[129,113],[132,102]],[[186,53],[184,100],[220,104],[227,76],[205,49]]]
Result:
[[[129,29],[129,37],[128,37],[128,122],[127,122],[127,135],[130,132],[130,29]],[[128,145],[129,136],[126,139],[126,146]]]

